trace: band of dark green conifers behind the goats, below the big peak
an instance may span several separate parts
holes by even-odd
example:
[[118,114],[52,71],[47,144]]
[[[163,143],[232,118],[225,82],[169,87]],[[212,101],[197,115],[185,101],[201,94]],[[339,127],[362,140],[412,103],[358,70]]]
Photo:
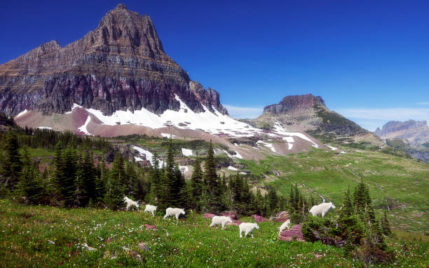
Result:
[[[238,173],[219,176],[211,142],[207,156],[194,161],[191,179],[186,181],[175,163],[172,140],[166,141],[168,148],[162,166],[155,152],[153,166],[141,168],[121,154],[116,154],[111,164],[104,159],[96,161],[94,148],[111,148],[101,138],[31,128],[24,133],[10,130],[0,135],[0,194],[26,203],[121,209],[123,196],[129,196],[160,209],[175,206],[201,213],[236,210],[243,215],[269,216],[290,208],[294,196],[298,196],[297,208],[301,210],[304,200],[297,189],[288,201],[273,187],[268,188],[267,194],[261,194],[261,189],[252,191],[247,178]],[[56,142],[52,163],[41,165],[33,161],[28,147],[50,148],[50,142]]]

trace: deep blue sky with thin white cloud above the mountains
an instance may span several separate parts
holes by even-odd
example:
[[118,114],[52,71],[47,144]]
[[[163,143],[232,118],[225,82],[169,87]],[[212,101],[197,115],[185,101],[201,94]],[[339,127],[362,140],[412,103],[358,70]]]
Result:
[[[53,39],[65,46],[118,3],[6,1],[0,62]],[[219,91],[233,117],[312,93],[369,130],[429,118],[426,1],[122,3],[151,16],[166,53]]]

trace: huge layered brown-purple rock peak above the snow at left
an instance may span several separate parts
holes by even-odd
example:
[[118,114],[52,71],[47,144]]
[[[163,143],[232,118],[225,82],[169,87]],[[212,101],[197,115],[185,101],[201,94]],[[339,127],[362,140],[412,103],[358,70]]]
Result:
[[62,114],[74,103],[106,115],[143,107],[162,114],[179,109],[175,95],[194,112],[205,105],[227,114],[217,91],[191,81],[165,54],[151,18],[123,4],[82,39],[64,47],[50,41],[0,65],[0,112],[12,116]]

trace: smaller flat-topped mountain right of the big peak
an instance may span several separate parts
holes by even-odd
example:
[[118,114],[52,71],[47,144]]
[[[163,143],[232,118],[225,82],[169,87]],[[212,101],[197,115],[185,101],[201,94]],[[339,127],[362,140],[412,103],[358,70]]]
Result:
[[249,120],[254,126],[271,128],[275,121],[290,131],[306,131],[327,141],[369,142],[381,146],[383,142],[354,123],[329,110],[320,96],[294,95],[283,98],[278,104],[264,107],[264,113]]

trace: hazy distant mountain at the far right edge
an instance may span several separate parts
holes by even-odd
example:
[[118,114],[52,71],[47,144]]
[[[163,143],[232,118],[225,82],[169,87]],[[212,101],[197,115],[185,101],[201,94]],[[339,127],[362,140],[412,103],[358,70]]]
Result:
[[429,162],[429,126],[426,121],[389,121],[374,134],[416,159]]

